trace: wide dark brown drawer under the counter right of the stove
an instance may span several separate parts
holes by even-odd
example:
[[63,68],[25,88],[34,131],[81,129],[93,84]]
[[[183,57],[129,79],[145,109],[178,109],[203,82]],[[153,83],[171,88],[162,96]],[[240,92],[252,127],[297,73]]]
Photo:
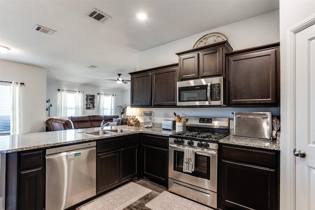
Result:
[[221,145],[222,159],[277,169],[278,152]]

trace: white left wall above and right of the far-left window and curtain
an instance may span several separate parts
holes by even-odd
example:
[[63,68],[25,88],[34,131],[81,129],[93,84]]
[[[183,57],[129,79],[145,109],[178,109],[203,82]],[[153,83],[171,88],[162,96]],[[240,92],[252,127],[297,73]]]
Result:
[[0,60],[0,80],[25,84],[22,86],[22,133],[44,131],[46,69]]

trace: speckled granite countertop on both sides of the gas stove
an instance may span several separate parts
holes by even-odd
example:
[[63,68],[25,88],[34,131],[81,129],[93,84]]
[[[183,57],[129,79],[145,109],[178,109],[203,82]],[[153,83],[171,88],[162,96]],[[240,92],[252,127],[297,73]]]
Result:
[[[49,131],[49,132],[39,132],[39,133],[28,133],[10,136],[1,136],[0,138],[0,153],[10,153],[16,151],[33,150],[40,148],[49,148],[54,146],[62,146],[68,144],[75,144],[88,141],[97,141],[100,139],[112,138],[117,136],[124,136],[136,133],[147,133],[156,134],[162,136],[169,136],[175,133],[175,130],[163,130],[162,128],[144,128],[144,127],[134,127],[134,126],[113,126],[113,128],[124,129],[124,133],[115,133],[109,136],[92,136],[87,135],[82,132],[85,131],[96,131],[99,127],[95,128],[85,128],[85,129],[72,129],[72,130],[62,130],[62,131]],[[277,140],[274,141],[261,141],[261,140],[251,140],[236,138],[229,135],[221,140],[219,143],[233,144],[241,146],[249,146],[255,148],[264,148],[270,150],[280,150],[280,135],[278,135]]]

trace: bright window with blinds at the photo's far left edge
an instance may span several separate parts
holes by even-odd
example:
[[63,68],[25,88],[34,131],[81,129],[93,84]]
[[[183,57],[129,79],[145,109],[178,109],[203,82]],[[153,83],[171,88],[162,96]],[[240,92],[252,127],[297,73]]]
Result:
[[10,135],[10,85],[0,85],[0,135]]

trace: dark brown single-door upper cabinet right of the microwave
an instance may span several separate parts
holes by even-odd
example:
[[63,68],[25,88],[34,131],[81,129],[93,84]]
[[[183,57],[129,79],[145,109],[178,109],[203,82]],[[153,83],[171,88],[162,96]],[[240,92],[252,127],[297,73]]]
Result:
[[279,106],[279,43],[226,54],[228,106]]

